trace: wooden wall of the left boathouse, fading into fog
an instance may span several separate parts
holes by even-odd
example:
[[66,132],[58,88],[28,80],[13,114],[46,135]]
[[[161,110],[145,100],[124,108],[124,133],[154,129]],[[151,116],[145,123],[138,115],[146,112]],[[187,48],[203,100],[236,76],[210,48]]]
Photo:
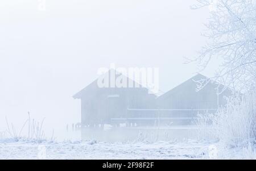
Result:
[[98,87],[97,80],[74,95],[74,98],[81,99],[82,126],[112,124],[112,118],[129,117],[129,108],[156,108],[156,96],[148,94],[145,87]]

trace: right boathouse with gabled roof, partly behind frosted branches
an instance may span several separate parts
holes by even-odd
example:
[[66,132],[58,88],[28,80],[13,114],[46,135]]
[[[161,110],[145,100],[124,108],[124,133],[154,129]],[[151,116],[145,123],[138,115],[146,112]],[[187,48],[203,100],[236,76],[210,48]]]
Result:
[[[203,89],[196,91],[198,83],[195,81],[205,80],[207,77],[197,74],[189,80],[183,82],[174,89],[161,95],[157,99],[160,109],[177,109],[172,111],[172,114],[185,113],[184,110],[213,112],[220,106],[226,105],[226,98],[231,95],[229,89],[224,90],[220,95],[217,95],[217,86],[223,88],[223,85],[217,82],[209,82]],[[181,109],[179,111],[179,109]]]

